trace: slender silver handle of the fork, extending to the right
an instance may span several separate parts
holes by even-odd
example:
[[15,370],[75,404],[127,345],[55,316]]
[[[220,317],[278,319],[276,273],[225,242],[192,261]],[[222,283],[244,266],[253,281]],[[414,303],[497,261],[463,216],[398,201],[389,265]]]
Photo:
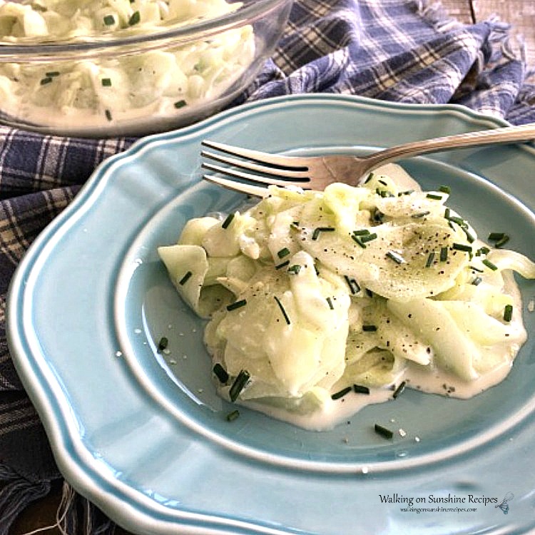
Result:
[[535,124],[525,124],[521,126],[504,126],[477,132],[456,134],[454,136],[444,136],[423,141],[412,141],[367,156],[370,162],[377,161],[377,164],[397,161],[409,156],[417,156],[431,152],[447,151],[454,148],[467,148],[494,143],[514,143],[520,141],[534,141]]

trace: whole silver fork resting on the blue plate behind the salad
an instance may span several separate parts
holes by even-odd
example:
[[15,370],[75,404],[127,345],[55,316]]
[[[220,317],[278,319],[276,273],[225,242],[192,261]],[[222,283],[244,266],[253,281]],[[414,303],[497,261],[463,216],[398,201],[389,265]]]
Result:
[[[344,154],[282,156],[208,140],[203,141],[202,145],[218,152],[203,150],[200,154],[204,158],[225,163],[225,166],[221,166],[203,162],[203,168],[233,177],[229,180],[215,175],[204,175],[205,180],[242,193],[264,197],[267,195],[266,188],[250,183],[292,185],[313,190],[323,190],[333,182],[357,185],[379,165],[399,161],[410,156],[454,148],[494,143],[516,143],[533,141],[534,139],[535,124],[531,123],[404,143],[362,157]],[[239,180],[246,180],[249,183],[243,183]]]

